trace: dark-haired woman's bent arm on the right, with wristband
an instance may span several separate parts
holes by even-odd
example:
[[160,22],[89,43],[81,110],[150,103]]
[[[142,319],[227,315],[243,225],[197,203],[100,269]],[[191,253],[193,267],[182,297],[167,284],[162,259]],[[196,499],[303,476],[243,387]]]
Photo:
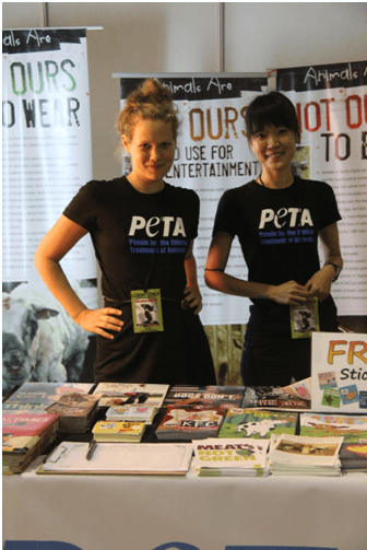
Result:
[[320,302],[325,300],[331,292],[331,283],[335,278],[335,269],[331,264],[343,268],[343,259],[339,244],[339,231],[336,223],[332,223],[320,231],[320,241],[323,249],[324,265],[306,283],[311,296],[317,296]]

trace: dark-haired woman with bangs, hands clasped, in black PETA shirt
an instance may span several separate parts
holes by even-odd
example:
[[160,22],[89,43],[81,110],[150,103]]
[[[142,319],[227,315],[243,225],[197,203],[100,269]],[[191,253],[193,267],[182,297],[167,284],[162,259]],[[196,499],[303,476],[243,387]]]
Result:
[[[205,281],[211,289],[252,302],[241,358],[244,383],[284,386],[310,375],[310,339],[292,338],[291,307],[301,313],[317,299],[320,330],[338,330],[330,292],[343,267],[336,226],[341,217],[328,184],[293,174],[291,163],[300,132],[286,96],[271,92],[254,98],[247,109],[246,127],[261,174],[222,197]],[[235,236],[248,280],[225,272]]]

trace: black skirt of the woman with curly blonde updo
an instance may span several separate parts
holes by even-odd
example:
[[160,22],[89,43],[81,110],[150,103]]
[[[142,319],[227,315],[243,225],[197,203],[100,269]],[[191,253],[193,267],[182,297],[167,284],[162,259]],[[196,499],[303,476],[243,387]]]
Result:
[[95,382],[215,385],[210,346],[200,317],[180,301],[164,300],[162,332],[134,333],[131,303],[108,301],[122,311],[123,327],[114,340],[97,336]]

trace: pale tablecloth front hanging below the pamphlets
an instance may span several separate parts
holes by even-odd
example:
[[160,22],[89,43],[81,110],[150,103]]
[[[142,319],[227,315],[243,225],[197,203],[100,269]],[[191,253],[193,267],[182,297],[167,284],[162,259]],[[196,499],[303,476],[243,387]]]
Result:
[[[3,477],[3,542],[82,550],[367,550],[367,473]],[[51,547],[50,547],[51,549]]]

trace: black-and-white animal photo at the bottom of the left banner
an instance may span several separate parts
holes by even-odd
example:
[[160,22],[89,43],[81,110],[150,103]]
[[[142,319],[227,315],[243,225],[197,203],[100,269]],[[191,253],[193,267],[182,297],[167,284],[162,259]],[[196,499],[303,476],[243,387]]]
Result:
[[[95,286],[83,281],[73,286],[86,305],[96,304]],[[3,292],[3,395],[25,382],[78,382],[90,336],[46,286],[21,283],[11,292]]]

